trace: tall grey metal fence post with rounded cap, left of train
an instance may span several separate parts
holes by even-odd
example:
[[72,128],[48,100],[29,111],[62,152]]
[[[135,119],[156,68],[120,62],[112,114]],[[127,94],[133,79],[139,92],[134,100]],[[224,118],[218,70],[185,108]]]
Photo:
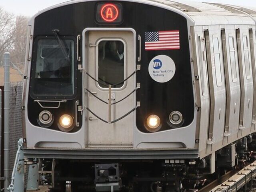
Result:
[[4,192],[9,186],[10,161],[10,53],[4,53]]

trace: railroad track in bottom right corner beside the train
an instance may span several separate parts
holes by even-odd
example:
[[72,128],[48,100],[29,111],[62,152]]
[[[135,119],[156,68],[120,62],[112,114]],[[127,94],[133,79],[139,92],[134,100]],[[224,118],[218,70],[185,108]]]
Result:
[[255,177],[256,161],[239,171],[232,170],[227,172],[197,192],[237,192],[242,187],[245,187],[245,189],[252,188],[252,181]]

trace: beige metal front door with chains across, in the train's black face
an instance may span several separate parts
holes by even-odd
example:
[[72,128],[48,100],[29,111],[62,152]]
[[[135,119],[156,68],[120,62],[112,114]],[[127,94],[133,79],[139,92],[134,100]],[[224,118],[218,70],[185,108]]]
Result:
[[85,39],[88,147],[132,147],[135,34],[131,30],[88,30]]

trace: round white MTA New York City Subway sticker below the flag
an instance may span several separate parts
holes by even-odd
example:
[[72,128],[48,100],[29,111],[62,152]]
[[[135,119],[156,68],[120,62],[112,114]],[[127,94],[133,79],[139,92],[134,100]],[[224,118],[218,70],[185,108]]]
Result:
[[174,61],[167,55],[158,55],[154,57],[148,65],[150,77],[159,83],[170,81],[176,71]]

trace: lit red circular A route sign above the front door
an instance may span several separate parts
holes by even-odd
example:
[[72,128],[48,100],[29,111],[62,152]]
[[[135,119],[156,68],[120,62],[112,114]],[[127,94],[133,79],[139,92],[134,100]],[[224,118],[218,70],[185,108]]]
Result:
[[107,22],[116,20],[118,14],[118,8],[114,4],[104,4],[100,10],[101,18]]

